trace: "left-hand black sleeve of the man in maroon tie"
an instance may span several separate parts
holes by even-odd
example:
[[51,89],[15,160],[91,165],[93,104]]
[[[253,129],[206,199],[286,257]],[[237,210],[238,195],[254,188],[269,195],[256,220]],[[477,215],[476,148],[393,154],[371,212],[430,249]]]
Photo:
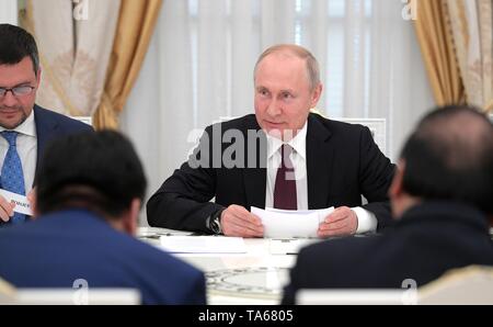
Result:
[[207,127],[188,161],[174,171],[147,203],[150,226],[210,233],[207,218],[223,208],[209,202],[216,193],[211,127]]

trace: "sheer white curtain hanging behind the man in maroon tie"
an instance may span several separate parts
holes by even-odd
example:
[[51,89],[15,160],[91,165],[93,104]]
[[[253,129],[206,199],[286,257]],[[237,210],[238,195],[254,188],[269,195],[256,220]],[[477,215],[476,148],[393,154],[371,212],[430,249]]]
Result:
[[318,57],[329,117],[387,120],[393,160],[433,105],[401,0],[167,0],[121,127],[154,192],[193,147],[192,132],[253,112],[253,65],[276,43]]

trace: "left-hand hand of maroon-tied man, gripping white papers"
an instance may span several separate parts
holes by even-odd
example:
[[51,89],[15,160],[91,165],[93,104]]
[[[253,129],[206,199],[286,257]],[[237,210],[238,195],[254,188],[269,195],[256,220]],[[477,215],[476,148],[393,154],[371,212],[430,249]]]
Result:
[[230,205],[221,213],[221,228],[226,236],[263,237],[261,219],[240,205]]

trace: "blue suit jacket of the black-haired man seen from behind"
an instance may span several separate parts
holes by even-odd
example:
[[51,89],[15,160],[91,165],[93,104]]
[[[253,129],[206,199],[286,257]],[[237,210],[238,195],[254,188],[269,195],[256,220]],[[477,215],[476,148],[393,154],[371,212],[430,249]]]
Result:
[[0,277],[18,287],[129,287],[145,304],[205,304],[202,272],[83,210],[0,229]]

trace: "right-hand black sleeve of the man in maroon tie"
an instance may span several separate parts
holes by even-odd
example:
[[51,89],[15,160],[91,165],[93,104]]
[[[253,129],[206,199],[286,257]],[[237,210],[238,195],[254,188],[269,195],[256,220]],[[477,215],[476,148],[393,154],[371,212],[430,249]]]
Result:
[[388,191],[395,166],[380,151],[368,127],[363,129],[359,144],[359,181],[362,193],[368,200],[363,207],[375,214],[380,232],[393,222]]

